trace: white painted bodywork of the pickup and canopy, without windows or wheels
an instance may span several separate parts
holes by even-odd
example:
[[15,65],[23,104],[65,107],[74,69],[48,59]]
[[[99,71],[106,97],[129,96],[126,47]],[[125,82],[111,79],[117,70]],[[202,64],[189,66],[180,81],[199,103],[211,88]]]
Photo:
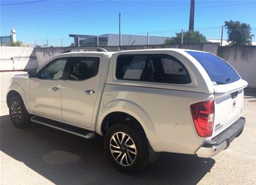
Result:
[[[160,84],[118,80],[115,77],[116,58],[121,54],[165,54],[177,58],[187,68],[190,84]],[[98,75],[88,80],[47,80],[14,76],[9,91],[17,91],[30,114],[62,121],[93,130],[102,135],[102,122],[111,112],[125,112],[138,120],[150,145],[156,152],[196,154],[205,141],[219,134],[238,119],[247,83],[239,80],[228,85],[212,85],[205,69],[183,49],[143,49],[104,52],[72,52],[60,57],[99,57]],[[48,63],[48,62],[47,62]],[[43,67],[43,66],[42,66]],[[39,69],[40,70],[40,69]],[[52,82],[55,81],[55,82]],[[60,91],[53,92],[51,87]],[[87,89],[95,94],[86,94]],[[231,110],[227,94],[239,90],[237,109]],[[224,127],[212,137],[199,137],[194,126],[190,105],[215,100],[215,121]],[[227,101],[225,101],[227,100]],[[232,103],[232,102],[231,102]],[[224,109],[224,112],[223,112]],[[233,114],[226,118],[226,114]]]

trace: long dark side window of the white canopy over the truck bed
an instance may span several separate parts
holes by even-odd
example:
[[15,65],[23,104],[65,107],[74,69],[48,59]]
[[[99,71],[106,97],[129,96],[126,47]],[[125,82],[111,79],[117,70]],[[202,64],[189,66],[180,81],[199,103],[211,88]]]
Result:
[[116,78],[167,84],[189,84],[188,71],[170,55],[119,55]]

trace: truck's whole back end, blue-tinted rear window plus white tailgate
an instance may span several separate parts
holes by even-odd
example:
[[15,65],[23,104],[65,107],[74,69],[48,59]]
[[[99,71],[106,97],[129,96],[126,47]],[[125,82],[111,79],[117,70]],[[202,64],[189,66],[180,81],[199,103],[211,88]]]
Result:
[[214,130],[212,137],[230,127],[238,118],[244,101],[247,82],[223,59],[205,52],[187,51],[203,66],[214,87]]

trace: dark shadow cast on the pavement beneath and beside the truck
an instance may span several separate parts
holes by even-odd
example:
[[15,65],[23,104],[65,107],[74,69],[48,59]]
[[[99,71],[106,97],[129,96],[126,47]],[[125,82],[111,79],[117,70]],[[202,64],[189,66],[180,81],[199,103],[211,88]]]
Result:
[[143,172],[125,175],[107,160],[101,137],[86,140],[41,125],[20,130],[9,116],[0,120],[1,151],[55,184],[197,184],[215,163],[194,155],[161,154]]

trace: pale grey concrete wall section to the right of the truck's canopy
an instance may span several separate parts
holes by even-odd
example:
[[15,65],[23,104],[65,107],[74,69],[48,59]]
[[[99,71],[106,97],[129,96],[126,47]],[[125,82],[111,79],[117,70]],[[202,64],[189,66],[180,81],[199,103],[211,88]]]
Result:
[[249,87],[256,88],[256,46],[219,47],[218,55],[237,70]]

